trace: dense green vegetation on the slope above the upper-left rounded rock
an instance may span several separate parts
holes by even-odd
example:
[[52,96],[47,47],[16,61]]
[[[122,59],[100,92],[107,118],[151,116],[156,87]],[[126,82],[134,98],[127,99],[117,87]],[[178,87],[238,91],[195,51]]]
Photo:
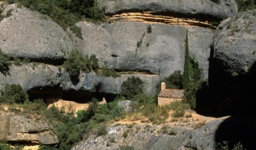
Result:
[[64,30],[68,27],[81,38],[81,29],[76,23],[84,18],[93,22],[105,20],[103,11],[94,0],[7,0],[8,3],[19,3],[31,10],[46,14]]

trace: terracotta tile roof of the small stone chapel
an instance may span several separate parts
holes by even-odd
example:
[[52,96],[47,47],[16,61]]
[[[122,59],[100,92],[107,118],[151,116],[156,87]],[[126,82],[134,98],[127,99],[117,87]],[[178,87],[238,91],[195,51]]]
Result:
[[183,89],[165,89],[161,91],[158,97],[163,98],[182,98],[183,97]]

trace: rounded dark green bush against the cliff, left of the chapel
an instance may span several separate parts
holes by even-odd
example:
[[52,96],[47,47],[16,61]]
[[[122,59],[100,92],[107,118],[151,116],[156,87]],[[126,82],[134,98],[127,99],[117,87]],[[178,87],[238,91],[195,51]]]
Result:
[[128,77],[127,80],[122,83],[121,95],[131,100],[135,95],[143,93],[143,84],[143,81],[139,77]]

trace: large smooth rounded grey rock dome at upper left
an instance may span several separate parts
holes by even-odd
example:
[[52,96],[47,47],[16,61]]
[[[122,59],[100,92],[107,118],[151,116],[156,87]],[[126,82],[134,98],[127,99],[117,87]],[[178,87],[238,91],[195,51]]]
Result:
[[39,59],[44,62],[67,58],[73,43],[67,33],[49,17],[15,4],[12,15],[0,22],[0,49],[10,57]]

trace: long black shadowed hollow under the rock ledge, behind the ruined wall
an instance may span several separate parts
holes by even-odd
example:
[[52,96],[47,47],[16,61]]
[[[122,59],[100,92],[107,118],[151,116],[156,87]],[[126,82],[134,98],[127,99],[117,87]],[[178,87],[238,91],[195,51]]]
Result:
[[110,102],[116,97],[114,94],[97,91],[97,89],[95,92],[74,89],[64,90],[59,86],[55,86],[35,88],[27,91],[27,93],[29,94],[29,99],[31,101],[37,98],[42,98],[47,104],[58,101],[59,99],[65,101],[75,101],[77,103],[87,103],[88,101],[91,101],[92,98],[97,98],[99,101],[102,101],[102,99],[105,98],[106,101]]

